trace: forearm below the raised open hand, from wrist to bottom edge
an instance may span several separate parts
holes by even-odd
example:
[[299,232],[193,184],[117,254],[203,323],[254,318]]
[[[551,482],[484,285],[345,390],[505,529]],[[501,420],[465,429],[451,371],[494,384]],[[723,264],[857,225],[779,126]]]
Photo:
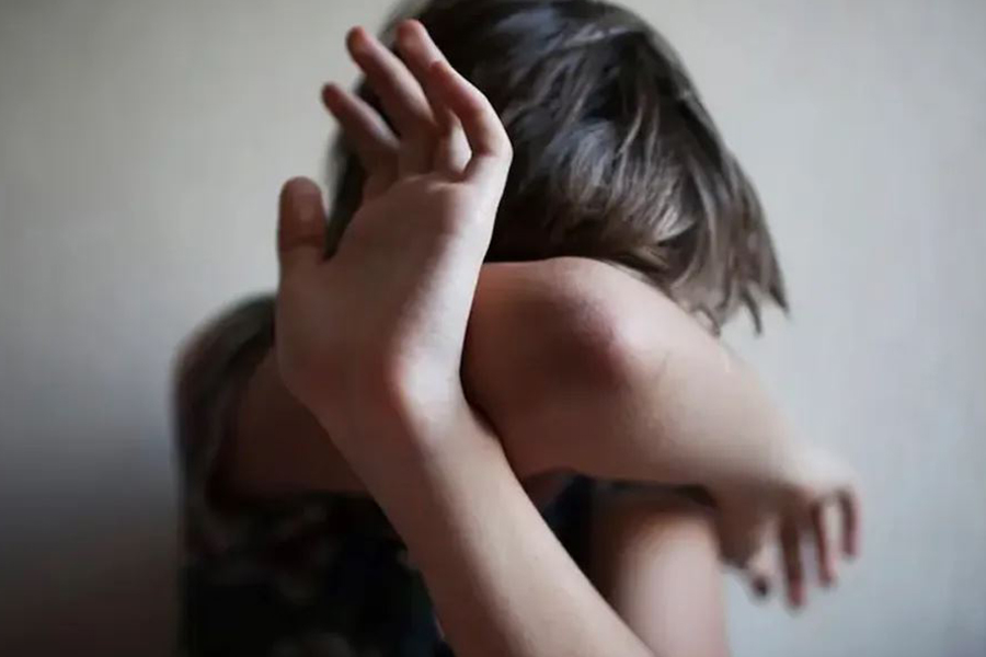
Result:
[[[372,486],[456,654],[651,655],[565,553],[489,435]],[[458,441],[457,436],[457,441]]]

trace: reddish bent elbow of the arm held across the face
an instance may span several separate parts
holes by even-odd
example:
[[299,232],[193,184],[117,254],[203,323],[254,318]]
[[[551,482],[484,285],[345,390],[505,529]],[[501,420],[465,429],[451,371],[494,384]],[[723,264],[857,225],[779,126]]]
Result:
[[654,303],[673,306],[662,299],[597,261],[485,266],[463,358],[470,401],[503,431],[505,417],[634,399],[626,393],[662,362]]

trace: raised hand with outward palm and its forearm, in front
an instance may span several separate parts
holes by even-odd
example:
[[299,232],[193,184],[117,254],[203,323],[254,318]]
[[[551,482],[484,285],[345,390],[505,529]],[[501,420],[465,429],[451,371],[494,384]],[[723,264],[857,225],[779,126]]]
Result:
[[[362,32],[354,38],[357,55],[375,48]],[[403,136],[397,166],[331,261],[321,257],[318,188],[296,180],[283,191],[285,382],[404,539],[457,654],[653,654],[567,556],[466,400],[466,325],[511,148],[493,108],[447,64],[421,82],[457,119],[440,130],[468,139],[463,169],[427,153],[440,140],[415,130],[406,99],[381,93]]]

